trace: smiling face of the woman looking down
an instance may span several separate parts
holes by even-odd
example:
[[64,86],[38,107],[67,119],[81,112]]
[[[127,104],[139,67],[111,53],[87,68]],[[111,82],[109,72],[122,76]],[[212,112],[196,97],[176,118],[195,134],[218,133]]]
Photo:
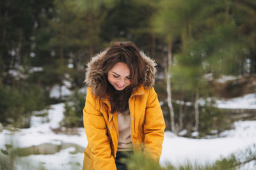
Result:
[[127,64],[117,62],[108,72],[108,81],[116,90],[124,90],[131,84],[131,72]]

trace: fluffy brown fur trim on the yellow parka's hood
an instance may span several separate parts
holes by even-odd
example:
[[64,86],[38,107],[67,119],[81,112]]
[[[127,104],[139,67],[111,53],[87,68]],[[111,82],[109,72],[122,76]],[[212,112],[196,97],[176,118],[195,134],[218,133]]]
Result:
[[[89,87],[92,87],[92,92],[95,94],[97,92],[97,89],[100,85],[100,81],[103,79],[103,71],[102,71],[102,59],[108,49],[104,50],[104,52],[100,52],[87,64],[86,74],[85,74],[85,80],[84,83],[88,85]],[[145,68],[144,68],[144,85],[147,85],[148,87],[152,87],[155,83],[155,76],[156,76],[156,62],[145,53],[140,52],[141,56],[145,62]]]

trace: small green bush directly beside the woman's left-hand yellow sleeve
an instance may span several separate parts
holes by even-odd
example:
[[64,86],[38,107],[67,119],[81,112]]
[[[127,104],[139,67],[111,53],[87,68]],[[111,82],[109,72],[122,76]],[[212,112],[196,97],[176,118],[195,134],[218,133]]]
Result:
[[65,127],[83,127],[83,108],[85,96],[78,89],[68,97],[65,102],[65,117],[61,121],[61,125]]

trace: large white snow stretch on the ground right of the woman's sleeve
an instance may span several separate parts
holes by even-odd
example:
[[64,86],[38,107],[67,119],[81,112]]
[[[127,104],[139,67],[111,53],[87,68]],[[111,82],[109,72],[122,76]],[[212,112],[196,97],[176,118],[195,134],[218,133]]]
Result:
[[170,162],[173,165],[189,162],[214,162],[231,153],[245,150],[256,143],[256,121],[239,121],[235,129],[226,131],[225,138],[189,139],[177,137],[166,132],[163,143],[161,164]]

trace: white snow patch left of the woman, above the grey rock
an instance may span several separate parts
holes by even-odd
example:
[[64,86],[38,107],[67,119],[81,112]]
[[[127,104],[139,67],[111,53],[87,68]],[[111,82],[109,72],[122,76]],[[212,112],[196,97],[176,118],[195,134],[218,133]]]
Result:
[[[0,148],[4,147],[5,138],[7,141],[17,141],[19,147],[29,147],[36,146],[43,143],[74,143],[84,148],[87,145],[86,136],[83,128],[77,129],[78,135],[73,135],[70,138],[70,135],[67,134],[55,134],[52,129],[57,129],[60,127],[60,122],[63,119],[64,104],[54,104],[49,110],[49,115],[47,119],[49,122],[45,122],[44,118],[40,122],[41,117],[33,116],[31,118],[31,127],[28,129],[20,129],[18,132],[12,132],[3,130],[0,133]],[[42,119],[42,118],[41,118]]]

